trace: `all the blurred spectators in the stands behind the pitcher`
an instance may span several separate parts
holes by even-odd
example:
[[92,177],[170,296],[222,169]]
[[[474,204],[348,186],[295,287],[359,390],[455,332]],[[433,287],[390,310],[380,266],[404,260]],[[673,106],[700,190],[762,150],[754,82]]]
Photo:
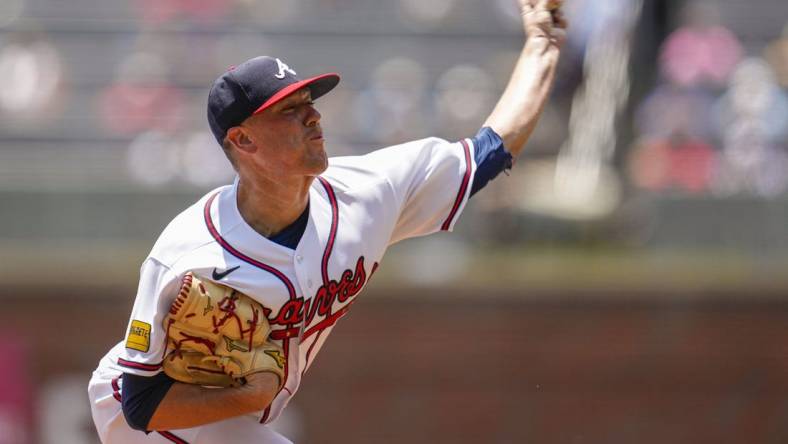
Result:
[[[788,25],[752,47],[726,27],[717,4],[689,2],[661,43],[658,80],[633,107],[634,141],[621,144],[623,164],[614,167],[636,189],[657,194],[784,195]],[[573,32],[557,97],[529,153],[558,154],[587,39],[621,6],[568,6]],[[232,171],[207,132],[205,94],[228,66],[265,53],[287,57],[301,74],[344,74],[319,104],[333,155],[428,135],[466,137],[505,85],[521,42],[517,14],[511,0],[374,8],[362,0],[5,0],[0,143],[25,153],[45,146],[122,153],[122,168],[102,170],[108,182],[224,183]],[[633,75],[654,69],[635,66]]]

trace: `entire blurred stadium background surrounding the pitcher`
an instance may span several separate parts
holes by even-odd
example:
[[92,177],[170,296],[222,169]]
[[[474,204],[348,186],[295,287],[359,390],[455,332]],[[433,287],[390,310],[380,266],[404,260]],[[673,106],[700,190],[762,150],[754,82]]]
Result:
[[[567,3],[527,154],[392,248],[296,442],[788,442],[788,4]],[[318,109],[354,154],[474,134],[521,43],[514,0],[2,0],[0,444],[96,442],[139,264],[232,178],[220,72],[339,71]]]

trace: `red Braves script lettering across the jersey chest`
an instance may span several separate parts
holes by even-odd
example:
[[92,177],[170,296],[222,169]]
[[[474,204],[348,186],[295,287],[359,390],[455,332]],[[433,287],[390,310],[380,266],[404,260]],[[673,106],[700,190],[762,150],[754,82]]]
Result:
[[315,297],[293,299],[282,306],[279,313],[269,321],[271,325],[294,325],[302,321],[309,325],[315,314],[326,316],[331,313],[335,302],[345,303],[361,291],[367,281],[364,256],[358,258],[354,271],[345,270],[339,280],[330,280],[317,289]]

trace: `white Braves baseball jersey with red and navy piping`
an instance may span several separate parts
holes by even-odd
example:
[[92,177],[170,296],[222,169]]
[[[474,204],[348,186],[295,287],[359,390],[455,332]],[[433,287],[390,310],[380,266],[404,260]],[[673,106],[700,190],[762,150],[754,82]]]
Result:
[[[97,406],[104,405],[116,411],[105,416],[117,420],[120,403],[101,404],[110,397],[119,399],[113,378],[124,372],[162,371],[162,321],[181,278],[192,271],[270,310],[271,338],[287,356],[286,381],[268,409],[243,418],[255,427],[275,419],[386,248],[452,229],[470,194],[476,169],[473,149],[471,139],[449,143],[429,138],[364,156],[331,158],[309,191],[309,220],[295,250],[266,239],[243,220],[237,181],[209,192],[167,226],[143,263],[126,338],[101,360],[91,381],[106,386],[92,389],[94,418],[101,408]],[[106,424],[96,421],[104,440]],[[116,422],[122,426],[123,421]],[[133,436],[145,436],[137,433]],[[189,433],[179,436],[184,435]]]

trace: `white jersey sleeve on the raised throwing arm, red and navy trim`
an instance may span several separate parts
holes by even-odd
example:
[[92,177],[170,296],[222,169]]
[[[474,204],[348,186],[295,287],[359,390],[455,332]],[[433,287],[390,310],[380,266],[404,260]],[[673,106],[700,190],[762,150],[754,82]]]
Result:
[[[378,183],[391,197],[381,212],[393,214],[389,244],[439,230],[451,231],[470,196],[476,162],[470,139],[451,143],[428,138],[333,158],[326,175],[348,188]],[[370,178],[378,180],[370,180]],[[371,217],[378,215],[371,214]]]

